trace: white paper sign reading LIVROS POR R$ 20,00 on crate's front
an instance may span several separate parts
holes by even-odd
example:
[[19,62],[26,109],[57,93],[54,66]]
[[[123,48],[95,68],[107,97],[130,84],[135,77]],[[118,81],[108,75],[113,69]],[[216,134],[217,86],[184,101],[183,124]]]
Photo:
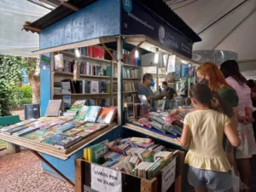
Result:
[[91,189],[99,192],[121,192],[122,174],[103,166],[91,164]]

